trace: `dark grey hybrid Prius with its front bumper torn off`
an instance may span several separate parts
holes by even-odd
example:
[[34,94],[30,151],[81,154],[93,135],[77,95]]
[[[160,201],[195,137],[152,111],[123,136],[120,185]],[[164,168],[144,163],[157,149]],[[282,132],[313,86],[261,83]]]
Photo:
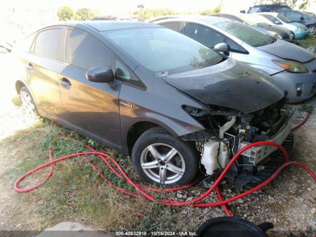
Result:
[[[280,84],[168,28],[60,23],[15,52],[26,67],[15,84],[26,111],[131,156],[146,182],[176,186],[216,175],[255,141],[292,146],[293,112]],[[283,162],[275,150],[244,152],[227,179],[260,182]]]

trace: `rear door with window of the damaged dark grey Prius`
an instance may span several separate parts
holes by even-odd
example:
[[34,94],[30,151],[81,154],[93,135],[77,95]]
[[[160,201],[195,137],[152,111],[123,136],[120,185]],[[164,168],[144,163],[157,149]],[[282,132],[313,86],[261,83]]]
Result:
[[[25,59],[27,82],[40,114],[59,117],[62,112],[58,82],[63,27],[38,32]],[[45,116],[45,114],[43,114]],[[47,116],[47,115],[46,115]]]

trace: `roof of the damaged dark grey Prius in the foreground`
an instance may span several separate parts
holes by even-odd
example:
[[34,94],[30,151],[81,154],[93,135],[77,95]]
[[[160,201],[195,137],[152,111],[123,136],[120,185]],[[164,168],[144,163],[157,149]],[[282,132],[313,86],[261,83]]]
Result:
[[161,28],[159,25],[141,21],[67,21],[58,22],[58,24],[55,25],[72,26],[78,28],[85,28],[88,26],[99,32],[130,28]]

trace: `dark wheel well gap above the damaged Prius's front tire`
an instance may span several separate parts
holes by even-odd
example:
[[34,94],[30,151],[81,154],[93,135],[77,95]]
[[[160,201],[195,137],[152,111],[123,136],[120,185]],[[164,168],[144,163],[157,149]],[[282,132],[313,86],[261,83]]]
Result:
[[134,123],[127,133],[127,147],[129,156],[132,154],[132,150],[137,139],[147,130],[158,127],[159,125],[154,122],[141,121]]

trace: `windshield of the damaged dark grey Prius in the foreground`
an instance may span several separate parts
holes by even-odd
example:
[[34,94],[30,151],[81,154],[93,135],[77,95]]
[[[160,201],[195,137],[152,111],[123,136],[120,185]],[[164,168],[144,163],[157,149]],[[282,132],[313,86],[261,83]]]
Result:
[[155,74],[192,71],[223,60],[221,54],[167,28],[132,28],[103,34]]

